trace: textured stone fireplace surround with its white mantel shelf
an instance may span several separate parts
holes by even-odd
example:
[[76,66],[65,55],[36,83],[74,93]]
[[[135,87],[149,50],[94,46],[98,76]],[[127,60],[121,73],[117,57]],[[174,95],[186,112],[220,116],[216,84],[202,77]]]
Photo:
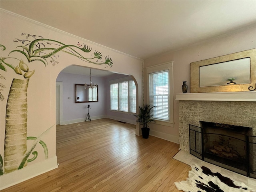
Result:
[[[181,150],[190,152],[189,125],[202,127],[202,122],[247,127],[249,134],[256,136],[256,92],[177,94],[176,100],[179,101]],[[252,177],[255,178],[256,138],[250,139],[255,143],[250,147]]]

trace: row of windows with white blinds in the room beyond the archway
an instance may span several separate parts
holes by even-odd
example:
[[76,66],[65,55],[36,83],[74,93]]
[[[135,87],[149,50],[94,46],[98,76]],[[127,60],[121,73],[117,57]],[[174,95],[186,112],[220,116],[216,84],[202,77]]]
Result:
[[136,113],[136,86],[133,80],[110,82],[110,109]]

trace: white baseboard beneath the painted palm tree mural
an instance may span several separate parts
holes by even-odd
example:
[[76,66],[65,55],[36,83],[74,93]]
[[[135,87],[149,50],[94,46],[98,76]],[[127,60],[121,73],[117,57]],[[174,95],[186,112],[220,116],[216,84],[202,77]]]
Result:
[[55,155],[53,158],[48,158],[42,162],[27,165],[20,170],[3,174],[0,177],[0,190],[16,185],[20,182],[26,181],[56,168],[58,168],[58,163],[57,156]]

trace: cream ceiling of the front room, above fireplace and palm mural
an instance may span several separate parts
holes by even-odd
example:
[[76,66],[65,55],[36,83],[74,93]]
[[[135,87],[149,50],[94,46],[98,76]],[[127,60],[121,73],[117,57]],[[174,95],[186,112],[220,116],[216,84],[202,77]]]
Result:
[[1,0],[0,7],[141,59],[256,25],[256,0]]

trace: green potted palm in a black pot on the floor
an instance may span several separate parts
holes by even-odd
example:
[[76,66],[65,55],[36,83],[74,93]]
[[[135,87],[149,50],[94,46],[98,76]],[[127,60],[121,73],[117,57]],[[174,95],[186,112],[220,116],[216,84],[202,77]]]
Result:
[[147,139],[149,135],[149,127],[148,124],[152,121],[155,121],[152,119],[153,116],[153,107],[150,107],[149,104],[144,104],[142,107],[139,106],[139,113],[134,114],[136,116],[137,123],[140,123],[142,125],[141,131],[142,131],[142,138]]

